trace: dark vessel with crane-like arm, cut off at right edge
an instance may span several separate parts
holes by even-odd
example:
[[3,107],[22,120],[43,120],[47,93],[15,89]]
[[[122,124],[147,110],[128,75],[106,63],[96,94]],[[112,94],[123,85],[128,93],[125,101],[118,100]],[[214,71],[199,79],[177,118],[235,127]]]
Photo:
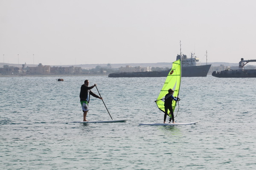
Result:
[[256,59],[244,60],[244,58],[241,58],[241,61],[239,62],[239,70],[228,68],[223,71],[213,71],[212,76],[219,78],[256,77],[256,69],[244,69],[244,65],[248,62],[256,62]]

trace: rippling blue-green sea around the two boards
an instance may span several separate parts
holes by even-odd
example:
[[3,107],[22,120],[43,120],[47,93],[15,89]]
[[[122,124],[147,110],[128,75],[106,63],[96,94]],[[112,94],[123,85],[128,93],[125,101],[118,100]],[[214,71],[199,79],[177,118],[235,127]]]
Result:
[[[91,96],[88,120],[129,120],[66,123],[83,120],[85,79],[105,103]],[[0,169],[256,169],[255,78],[182,77],[175,122],[199,122],[139,125],[163,123],[154,101],[165,79],[0,77]]]

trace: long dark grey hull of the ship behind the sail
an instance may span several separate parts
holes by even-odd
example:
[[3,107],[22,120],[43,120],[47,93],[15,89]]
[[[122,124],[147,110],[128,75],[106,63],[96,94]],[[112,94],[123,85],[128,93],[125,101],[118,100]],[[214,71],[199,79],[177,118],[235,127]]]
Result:
[[[206,77],[211,65],[183,67],[181,77]],[[166,77],[168,71],[112,73],[108,77]]]

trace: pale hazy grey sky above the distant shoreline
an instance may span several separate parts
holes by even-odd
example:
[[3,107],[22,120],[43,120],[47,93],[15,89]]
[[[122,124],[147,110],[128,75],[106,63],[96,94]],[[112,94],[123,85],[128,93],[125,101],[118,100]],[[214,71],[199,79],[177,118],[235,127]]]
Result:
[[[0,62],[256,59],[255,0],[0,0]],[[207,51],[207,57],[206,57]]]

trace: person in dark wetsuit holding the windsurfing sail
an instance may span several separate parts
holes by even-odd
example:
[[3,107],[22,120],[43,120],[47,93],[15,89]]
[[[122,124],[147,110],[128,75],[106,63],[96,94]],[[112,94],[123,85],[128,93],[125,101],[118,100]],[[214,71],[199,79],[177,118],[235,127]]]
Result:
[[[165,98],[164,98],[164,110],[165,110],[165,113],[164,113],[164,119],[163,119],[163,123],[166,123],[166,116],[167,116],[167,112],[168,112],[168,109],[172,115],[172,123],[175,123],[174,122],[174,115],[173,115],[173,110],[172,110],[172,100],[175,100],[177,101],[177,97],[174,97],[172,96],[174,93],[174,91],[170,88],[168,90],[168,94],[166,94]],[[171,122],[171,118],[170,118],[170,122]]]

